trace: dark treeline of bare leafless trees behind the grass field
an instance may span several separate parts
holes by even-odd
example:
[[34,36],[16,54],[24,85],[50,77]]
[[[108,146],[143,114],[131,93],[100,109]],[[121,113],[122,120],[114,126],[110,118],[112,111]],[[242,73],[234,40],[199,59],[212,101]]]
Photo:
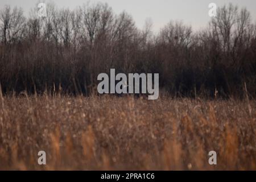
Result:
[[[207,28],[171,21],[157,35],[125,12],[89,3],[75,10],[47,5],[47,17],[5,6],[0,12],[3,93],[88,95],[99,73],[159,73],[172,96],[256,95],[256,25],[246,9],[220,7]],[[170,17],[171,18],[171,17]],[[246,86],[245,86],[246,85]]]

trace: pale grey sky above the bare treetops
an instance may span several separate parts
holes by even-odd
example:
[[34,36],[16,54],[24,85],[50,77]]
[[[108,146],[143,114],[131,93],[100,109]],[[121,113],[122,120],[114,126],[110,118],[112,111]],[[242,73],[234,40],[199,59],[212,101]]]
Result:
[[[87,0],[42,0],[42,2],[49,1],[55,2],[59,8],[69,7],[69,9],[75,9],[87,2]],[[0,8],[4,5],[18,6],[28,14],[38,2],[38,0],[0,0]],[[155,32],[171,19],[183,20],[184,23],[191,24],[195,30],[207,26],[210,20],[208,5],[211,2],[216,3],[217,6],[232,2],[239,7],[246,7],[253,21],[256,20],[255,0],[90,0],[90,2],[106,2],[117,14],[125,10],[133,16],[139,28],[143,27],[147,18],[151,18]]]

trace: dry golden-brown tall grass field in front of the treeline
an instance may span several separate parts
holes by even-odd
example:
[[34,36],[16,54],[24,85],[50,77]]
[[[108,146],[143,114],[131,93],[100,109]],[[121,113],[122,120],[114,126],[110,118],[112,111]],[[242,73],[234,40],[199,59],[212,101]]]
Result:
[[255,108],[254,100],[5,96],[0,169],[256,170]]

